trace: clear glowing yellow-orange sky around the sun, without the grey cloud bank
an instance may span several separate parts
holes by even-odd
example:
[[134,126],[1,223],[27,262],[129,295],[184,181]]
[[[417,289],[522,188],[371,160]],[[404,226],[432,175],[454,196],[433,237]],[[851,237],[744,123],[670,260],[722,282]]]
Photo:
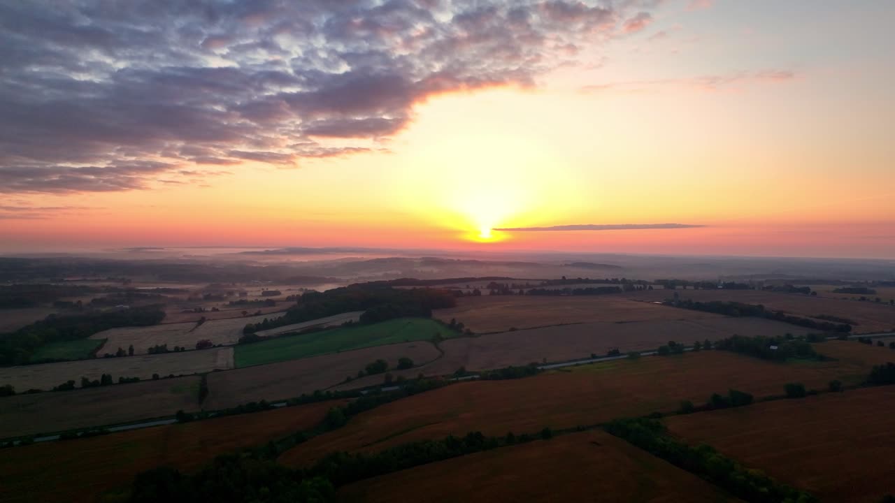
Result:
[[[430,76],[424,85],[446,89],[413,91],[398,105],[396,84],[340,95],[371,100],[378,115],[364,120],[399,124],[338,137],[326,128],[345,126],[331,116],[302,126],[302,141],[326,156],[287,141],[286,123],[263,130],[268,156],[286,158],[276,162],[184,136],[179,158],[141,144],[141,160],[167,167],[128,171],[113,182],[133,186],[115,190],[81,180],[60,189],[67,175],[24,179],[21,158],[0,157],[11,181],[0,193],[0,252],[357,245],[895,258],[895,64],[882,50],[895,41],[882,22],[891,4],[769,2],[748,13],[733,2],[658,4],[643,26],[635,9],[618,13],[611,31],[585,30],[568,56],[543,49],[566,59],[534,65],[530,81]],[[313,98],[303,121],[328,95]],[[50,134],[38,138],[61,149]],[[96,140],[72,148],[86,141]],[[103,141],[106,169],[117,166],[107,152],[126,144]],[[193,145],[230,158],[185,160]],[[28,155],[32,171],[95,165]],[[491,230],[668,223],[695,227]]]

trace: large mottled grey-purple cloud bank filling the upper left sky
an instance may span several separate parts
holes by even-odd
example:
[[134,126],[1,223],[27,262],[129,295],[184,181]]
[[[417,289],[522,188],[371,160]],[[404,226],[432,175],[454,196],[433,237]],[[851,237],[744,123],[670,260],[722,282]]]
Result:
[[536,85],[660,4],[0,3],[0,192],[140,190],[197,166],[378,151],[417,104]]

